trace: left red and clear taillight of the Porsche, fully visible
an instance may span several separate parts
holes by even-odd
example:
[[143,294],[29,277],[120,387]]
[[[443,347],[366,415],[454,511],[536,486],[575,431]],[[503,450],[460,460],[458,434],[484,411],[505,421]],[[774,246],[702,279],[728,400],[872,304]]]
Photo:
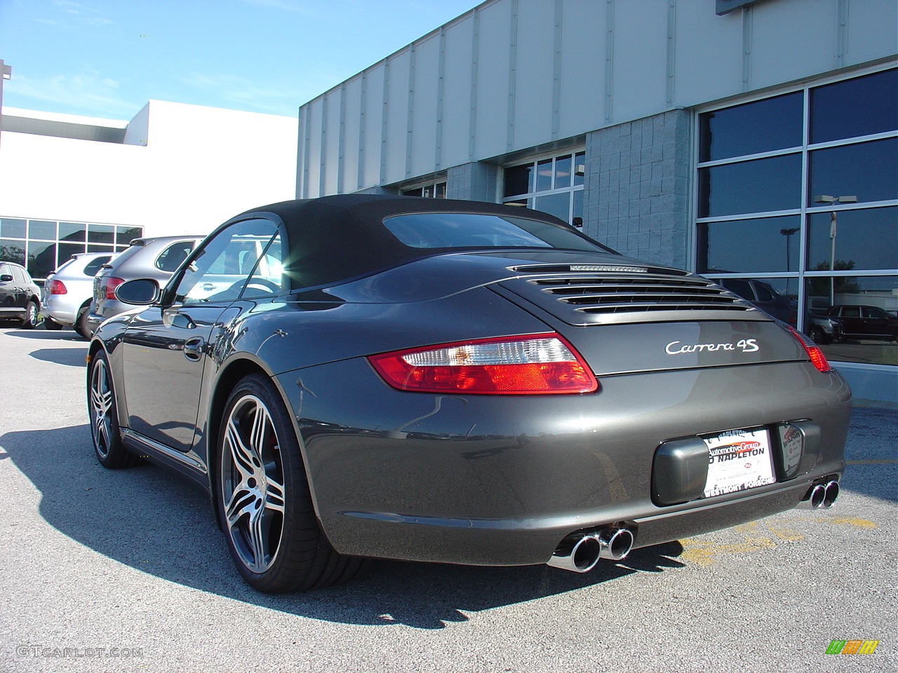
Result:
[[583,358],[557,334],[430,345],[368,361],[393,388],[417,392],[550,395],[599,388]]

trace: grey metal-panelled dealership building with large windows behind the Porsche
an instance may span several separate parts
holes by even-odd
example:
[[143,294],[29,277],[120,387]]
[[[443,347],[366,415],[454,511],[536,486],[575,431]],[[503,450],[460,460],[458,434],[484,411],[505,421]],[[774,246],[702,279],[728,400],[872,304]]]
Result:
[[898,401],[894,0],[487,0],[301,107],[296,197],[352,192],[545,211],[807,332],[856,311],[823,349]]

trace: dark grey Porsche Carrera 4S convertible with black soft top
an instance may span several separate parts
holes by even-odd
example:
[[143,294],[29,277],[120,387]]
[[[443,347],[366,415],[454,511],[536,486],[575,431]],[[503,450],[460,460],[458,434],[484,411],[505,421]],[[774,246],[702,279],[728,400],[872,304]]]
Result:
[[97,458],[206,489],[258,590],[364,557],[585,572],[838,494],[850,389],[813,342],[550,215],[290,201],[116,293],[146,308],[90,345]]

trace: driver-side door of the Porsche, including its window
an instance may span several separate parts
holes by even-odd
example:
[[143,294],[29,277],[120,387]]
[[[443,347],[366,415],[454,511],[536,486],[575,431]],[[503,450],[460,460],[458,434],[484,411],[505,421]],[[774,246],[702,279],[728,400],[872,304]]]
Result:
[[[224,326],[243,310],[243,304],[234,302],[246,286],[255,261],[276,234],[277,226],[267,220],[225,227],[172,278],[162,303],[131,320],[121,348],[132,431],[175,450],[190,450],[212,345]],[[256,246],[257,241],[264,244]],[[245,270],[227,267],[235,251],[250,248],[257,251],[256,259]],[[219,288],[213,294],[205,289],[213,282],[210,279]]]

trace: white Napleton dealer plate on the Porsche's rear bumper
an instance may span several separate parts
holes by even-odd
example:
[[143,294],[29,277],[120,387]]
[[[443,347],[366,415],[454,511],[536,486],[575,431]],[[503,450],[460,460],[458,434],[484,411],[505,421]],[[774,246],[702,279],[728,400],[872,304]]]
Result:
[[770,459],[770,433],[766,430],[731,430],[703,439],[710,453],[706,498],[777,480]]

